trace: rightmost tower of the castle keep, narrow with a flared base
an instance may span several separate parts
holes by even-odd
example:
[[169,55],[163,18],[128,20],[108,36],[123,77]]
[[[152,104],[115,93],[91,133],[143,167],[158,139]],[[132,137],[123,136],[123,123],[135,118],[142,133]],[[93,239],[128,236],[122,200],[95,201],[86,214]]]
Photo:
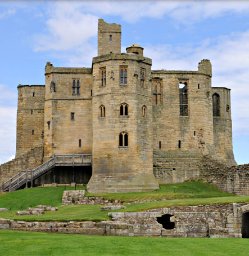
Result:
[[212,96],[214,94],[219,95],[219,103],[216,102],[219,113],[213,116],[215,153],[220,161],[233,166],[236,161],[233,156],[230,89],[212,87]]

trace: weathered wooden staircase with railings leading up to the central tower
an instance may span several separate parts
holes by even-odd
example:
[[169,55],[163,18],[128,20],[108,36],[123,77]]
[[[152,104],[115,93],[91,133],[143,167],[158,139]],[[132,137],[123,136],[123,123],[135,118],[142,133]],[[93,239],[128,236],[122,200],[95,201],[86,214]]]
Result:
[[54,155],[53,158],[36,167],[34,170],[19,171],[19,173],[7,180],[7,182],[3,182],[2,191],[15,191],[24,184],[28,187],[28,182],[33,187],[33,181],[35,179],[47,173],[47,171],[55,166],[92,166],[92,155]]

